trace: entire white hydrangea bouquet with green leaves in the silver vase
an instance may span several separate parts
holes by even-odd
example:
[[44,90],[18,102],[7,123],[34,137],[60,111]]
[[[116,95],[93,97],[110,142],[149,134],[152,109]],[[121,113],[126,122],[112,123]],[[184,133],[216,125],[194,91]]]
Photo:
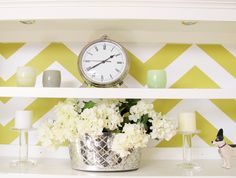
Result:
[[39,141],[58,147],[85,134],[96,137],[103,132],[116,133],[112,150],[125,157],[133,149],[146,147],[150,138],[170,140],[176,126],[143,100],[66,99],[56,105],[56,119],[40,128]]

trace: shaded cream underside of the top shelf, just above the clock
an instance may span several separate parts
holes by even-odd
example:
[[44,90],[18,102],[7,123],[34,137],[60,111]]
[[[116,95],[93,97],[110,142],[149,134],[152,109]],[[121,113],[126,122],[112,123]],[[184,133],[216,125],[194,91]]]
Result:
[[[0,15],[1,13],[0,8]],[[236,17],[236,12],[234,16]],[[87,43],[107,34],[121,43],[234,44],[235,21],[198,21],[195,25],[186,26],[182,24],[182,20],[174,19],[36,20],[32,25],[22,24],[19,20],[0,20],[0,41]]]

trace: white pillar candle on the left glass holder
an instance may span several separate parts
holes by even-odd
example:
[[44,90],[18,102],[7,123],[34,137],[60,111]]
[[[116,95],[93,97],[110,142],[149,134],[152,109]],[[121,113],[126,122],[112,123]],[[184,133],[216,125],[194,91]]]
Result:
[[32,126],[32,111],[16,111],[15,128],[29,129]]

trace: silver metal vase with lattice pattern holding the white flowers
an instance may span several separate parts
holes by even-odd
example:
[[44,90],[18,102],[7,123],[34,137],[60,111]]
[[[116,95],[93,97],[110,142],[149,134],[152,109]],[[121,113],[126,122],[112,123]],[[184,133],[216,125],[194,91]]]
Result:
[[73,169],[83,171],[130,171],[139,168],[141,152],[133,150],[126,157],[120,157],[111,150],[114,135],[104,133],[93,138],[84,135],[77,142],[70,143],[69,151]]

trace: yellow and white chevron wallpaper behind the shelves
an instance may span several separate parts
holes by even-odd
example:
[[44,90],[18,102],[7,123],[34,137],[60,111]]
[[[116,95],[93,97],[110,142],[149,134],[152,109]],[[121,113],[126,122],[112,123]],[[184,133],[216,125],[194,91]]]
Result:
[[[81,77],[77,70],[77,56],[85,44],[81,43],[0,43],[0,86],[16,86],[18,66],[37,69],[36,87],[41,87],[42,72],[59,69],[63,87],[78,87]],[[169,88],[236,88],[236,45],[206,44],[123,44],[131,59],[131,69],[125,84],[128,87],[145,86],[149,69],[165,69]],[[236,91],[235,91],[236,92]],[[34,111],[35,127],[54,117],[53,106],[60,99],[0,98],[0,144],[17,141],[11,131],[16,110]],[[224,128],[229,143],[236,143],[236,100],[156,100],[157,111],[176,118],[181,111],[197,111],[194,145],[210,146],[217,129]],[[30,138],[36,144],[36,136]],[[181,146],[181,137],[175,136],[160,147]]]

